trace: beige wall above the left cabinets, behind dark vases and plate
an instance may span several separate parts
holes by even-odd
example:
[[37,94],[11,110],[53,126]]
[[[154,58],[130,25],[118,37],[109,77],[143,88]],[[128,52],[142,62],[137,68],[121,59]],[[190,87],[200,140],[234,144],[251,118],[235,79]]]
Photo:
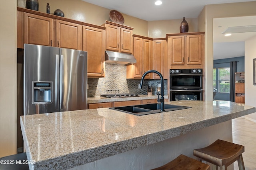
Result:
[[[111,21],[109,12],[111,9],[102,8],[82,0],[38,0],[39,11],[46,13],[46,5],[49,2],[50,14],[56,9],[64,12],[65,18],[78,20],[94,25],[102,25],[105,21]],[[63,3],[65,2],[65,3]],[[26,8],[26,0],[18,0],[18,6]],[[124,25],[134,28],[134,34],[148,36],[148,22],[132,16],[124,16]]]

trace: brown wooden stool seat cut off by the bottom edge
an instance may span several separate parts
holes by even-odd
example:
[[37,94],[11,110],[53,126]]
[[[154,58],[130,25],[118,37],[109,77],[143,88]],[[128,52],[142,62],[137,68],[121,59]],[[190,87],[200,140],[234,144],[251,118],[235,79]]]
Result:
[[210,165],[181,154],[171,162],[152,170],[210,170]]

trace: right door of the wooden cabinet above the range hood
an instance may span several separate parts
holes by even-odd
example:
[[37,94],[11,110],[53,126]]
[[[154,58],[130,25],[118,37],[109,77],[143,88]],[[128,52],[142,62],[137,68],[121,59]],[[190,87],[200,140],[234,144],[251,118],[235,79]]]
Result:
[[121,51],[124,53],[132,53],[133,38],[132,30],[121,28]]

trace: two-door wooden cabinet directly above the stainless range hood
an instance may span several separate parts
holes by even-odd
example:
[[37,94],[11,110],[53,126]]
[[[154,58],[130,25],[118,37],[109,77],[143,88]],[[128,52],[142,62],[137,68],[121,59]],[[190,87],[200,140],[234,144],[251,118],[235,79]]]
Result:
[[106,49],[133,53],[132,27],[106,21]]

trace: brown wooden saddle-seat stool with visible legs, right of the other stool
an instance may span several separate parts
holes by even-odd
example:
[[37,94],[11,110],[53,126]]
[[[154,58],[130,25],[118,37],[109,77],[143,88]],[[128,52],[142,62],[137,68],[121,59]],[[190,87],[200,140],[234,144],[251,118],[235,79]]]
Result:
[[221,170],[227,170],[227,167],[236,160],[238,161],[239,170],[245,170],[243,152],[244,146],[218,139],[208,147],[195,149],[194,156],[200,162],[205,160],[212,163],[214,165],[213,170],[217,170],[218,166]]

